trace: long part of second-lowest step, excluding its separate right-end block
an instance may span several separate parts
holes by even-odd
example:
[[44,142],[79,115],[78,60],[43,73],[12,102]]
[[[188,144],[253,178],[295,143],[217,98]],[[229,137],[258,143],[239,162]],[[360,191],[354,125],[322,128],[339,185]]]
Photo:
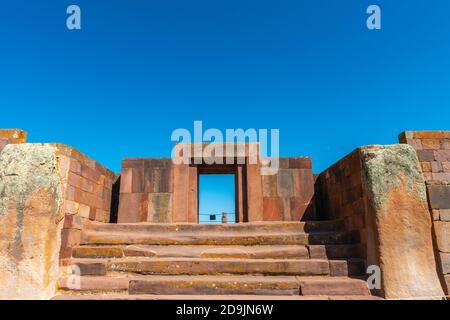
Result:
[[328,275],[327,260],[315,259],[210,259],[210,258],[118,258],[71,259],[81,275],[103,276],[111,272],[164,275]]

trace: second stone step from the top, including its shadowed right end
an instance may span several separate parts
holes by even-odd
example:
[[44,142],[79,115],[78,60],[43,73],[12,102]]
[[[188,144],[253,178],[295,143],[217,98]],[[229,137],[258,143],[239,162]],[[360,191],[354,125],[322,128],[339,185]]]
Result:
[[243,233],[243,232],[167,232],[130,233],[86,230],[81,244],[91,245],[310,245],[344,244],[345,232]]

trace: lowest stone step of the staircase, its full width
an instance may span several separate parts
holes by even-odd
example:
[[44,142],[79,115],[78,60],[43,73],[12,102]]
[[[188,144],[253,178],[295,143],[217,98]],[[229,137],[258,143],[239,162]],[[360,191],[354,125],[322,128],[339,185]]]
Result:
[[[78,287],[68,278],[59,280],[60,295],[263,295],[370,299],[365,281],[346,277],[295,276],[136,276],[80,277]],[[110,296],[112,297],[112,296]],[[106,297],[105,297],[106,298]]]

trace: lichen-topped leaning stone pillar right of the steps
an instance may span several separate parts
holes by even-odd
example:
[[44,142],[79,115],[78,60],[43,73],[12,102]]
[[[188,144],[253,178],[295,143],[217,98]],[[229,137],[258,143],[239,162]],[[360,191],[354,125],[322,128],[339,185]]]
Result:
[[386,298],[443,296],[425,183],[409,145],[361,149],[369,212],[368,265],[379,265]]

